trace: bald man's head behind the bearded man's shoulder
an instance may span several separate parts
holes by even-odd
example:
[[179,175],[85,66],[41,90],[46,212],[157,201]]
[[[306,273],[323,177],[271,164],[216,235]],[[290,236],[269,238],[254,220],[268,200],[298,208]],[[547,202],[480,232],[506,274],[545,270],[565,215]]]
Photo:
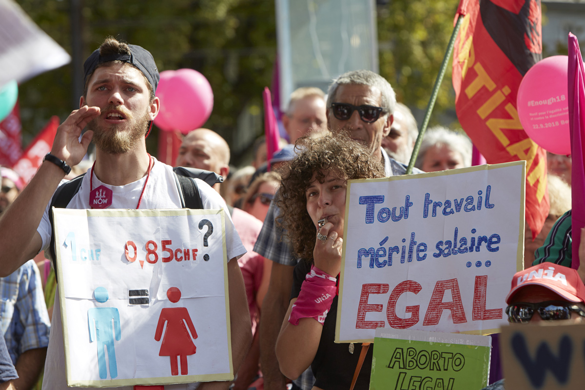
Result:
[[212,130],[197,129],[183,139],[175,165],[212,171],[226,178],[228,164],[228,143]]

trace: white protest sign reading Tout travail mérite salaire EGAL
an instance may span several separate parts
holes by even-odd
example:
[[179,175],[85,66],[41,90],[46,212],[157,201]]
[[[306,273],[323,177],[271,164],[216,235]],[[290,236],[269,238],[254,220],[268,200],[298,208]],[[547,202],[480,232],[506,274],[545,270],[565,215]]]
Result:
[[349,181],[335,341],[497,332],[522,267],[524,176],[518,161]]

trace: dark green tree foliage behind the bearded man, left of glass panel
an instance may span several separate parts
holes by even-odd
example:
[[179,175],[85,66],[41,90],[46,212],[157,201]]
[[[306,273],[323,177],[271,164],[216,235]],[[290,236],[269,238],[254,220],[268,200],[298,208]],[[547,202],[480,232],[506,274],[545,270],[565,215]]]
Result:
[[[72,52],[70,14],[75,0],[18,0],[26,13],[68,53]],[[82,57],[106,36],[143,46],[159,71],[193,68],[214,91],[214,110],[206,127],[228,140],[240,112],[261,106],[276,58],[274,2],[264,0],[87,0],[81,2]],[[78,108],[72,66],[39,75],[20,86],[24,143],[51,115],[64,120]],[[260,131],[261,129],[251,129]],[[149,149],[156,151],[156,130]]]

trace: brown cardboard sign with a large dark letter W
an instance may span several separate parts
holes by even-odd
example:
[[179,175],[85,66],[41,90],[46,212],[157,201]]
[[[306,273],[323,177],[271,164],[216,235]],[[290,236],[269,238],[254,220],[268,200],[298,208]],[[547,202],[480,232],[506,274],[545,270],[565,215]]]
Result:
[[502,327],[500,353],[507,389],[583,388],[585,325],[563,323],[550,321]]

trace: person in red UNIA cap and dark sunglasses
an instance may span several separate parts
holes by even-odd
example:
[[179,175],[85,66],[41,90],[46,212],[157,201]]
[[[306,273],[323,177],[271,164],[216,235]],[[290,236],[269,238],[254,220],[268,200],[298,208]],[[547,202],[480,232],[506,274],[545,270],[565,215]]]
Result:
[[[585,322],[585,285],[577,270],[542,263],[516,272],[506,296],[511,323]],[[504,390],[504,379],[484,390]]]

